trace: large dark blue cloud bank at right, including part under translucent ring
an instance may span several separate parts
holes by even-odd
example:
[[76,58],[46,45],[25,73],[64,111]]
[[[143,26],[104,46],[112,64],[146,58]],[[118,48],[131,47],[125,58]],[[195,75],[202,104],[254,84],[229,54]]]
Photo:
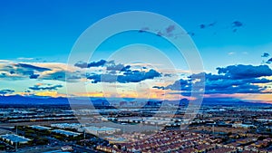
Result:
[[[205,94],[264,93],[267,90],[264,84],[272,82],[261,78],[272,75],[267,65],[229,65],[226,68],[219,68],[218,71],[219,74],[204,73]],[[171,94],[189,96],[192,85],[197,87],[200,82],[192,78],[199,78],[199,74],[192,74],[188,80],[175,81],[166,86],[165,90],[174,91]]]

